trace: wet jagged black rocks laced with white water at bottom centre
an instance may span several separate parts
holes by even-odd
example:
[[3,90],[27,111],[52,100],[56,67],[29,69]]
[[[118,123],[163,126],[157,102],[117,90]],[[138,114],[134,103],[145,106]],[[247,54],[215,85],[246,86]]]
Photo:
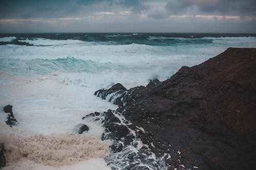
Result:
[[100,123],[105,127],[101,139],[109,139],[113,142],[112,153],[105,158],[112,169],[166,169],[164,159],[156,158],[150,148],[142,144],[138,138],[138,134],[145,133],[143,128],[127,121],[119,112],[114,110],[95,112],[82,119]]

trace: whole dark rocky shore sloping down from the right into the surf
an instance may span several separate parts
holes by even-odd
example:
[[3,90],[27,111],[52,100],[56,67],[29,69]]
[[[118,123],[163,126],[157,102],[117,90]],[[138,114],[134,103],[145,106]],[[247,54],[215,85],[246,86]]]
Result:
[[167,169],[256,169],[256,48],[228,48],[166,81],[129,90],[116,84],[95,95],[119,106],[91,115],[106,128],[102,139],[115,140],[113,153],[138,149],[135,139],[145,144],[126,155],[138,161],[123,169],[150,169],[139,163],[152,153],[155,169],[161,162]]

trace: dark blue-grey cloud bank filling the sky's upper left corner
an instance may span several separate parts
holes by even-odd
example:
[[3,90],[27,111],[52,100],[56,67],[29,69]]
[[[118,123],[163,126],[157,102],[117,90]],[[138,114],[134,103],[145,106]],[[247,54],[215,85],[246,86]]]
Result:
[[[0,0],[0,18],[54,18],[68,17],[99,12],[111,11],[112,6],[129,8],[134,13],[144,9],[139,0]],[[96,6],[98,8],[95,8]]]

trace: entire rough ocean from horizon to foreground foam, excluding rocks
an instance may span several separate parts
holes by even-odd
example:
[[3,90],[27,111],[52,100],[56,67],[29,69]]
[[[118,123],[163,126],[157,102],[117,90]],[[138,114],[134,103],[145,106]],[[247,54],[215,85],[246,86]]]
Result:
[[[227,47],[256,47],[256,34],[0,34],[0,106],[12,105],[18,121],[8,127],[0,111],[4,169],[111,169],[104,161],[111,141],[101,140],[103,127],[81,117],[117,106],[94,92],[115,83],[131,88],[166,80]],[[80,123],[90,130],[77,135]]]

